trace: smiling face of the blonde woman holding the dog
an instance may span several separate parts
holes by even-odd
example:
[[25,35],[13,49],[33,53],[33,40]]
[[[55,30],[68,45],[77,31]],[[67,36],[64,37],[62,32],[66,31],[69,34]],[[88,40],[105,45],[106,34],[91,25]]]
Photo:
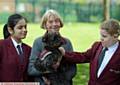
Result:
[[60,21],[54,15],[51,15],[49,19],[46,21],[46,29],[48,32],[59,32],[60,30]]

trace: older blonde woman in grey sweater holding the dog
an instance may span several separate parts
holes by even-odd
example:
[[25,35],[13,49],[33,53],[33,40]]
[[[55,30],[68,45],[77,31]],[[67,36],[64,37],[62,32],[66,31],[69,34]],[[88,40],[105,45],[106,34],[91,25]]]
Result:
[[[42,17],[41,28],[47,32],[55,31],[59,33],[59,30],[63,27],[63,22],[59,14],[55,10],[48,10]],[[46,34],[45,33],[45,34]],[[62,36],[61,36],[62,37]],[[28,72],[30,75],[35,76],[35,80],[39,81],[41,85],[72,85],[72,78],[76,74],[76,65],[69,64],[62,59],[61,64],[55,73],[46,73],[49,78],[45,78],[41,71],[35,68],[35,61],[42,51],[44,51],[44,43],[42,42],[42,37],[37,38],[34,41]],[[65,50],[73,51],[72,44],[69,39],[62,37],[65,40],[65,44],[62,45]],[[53,83],[56,82],[57,84]]]

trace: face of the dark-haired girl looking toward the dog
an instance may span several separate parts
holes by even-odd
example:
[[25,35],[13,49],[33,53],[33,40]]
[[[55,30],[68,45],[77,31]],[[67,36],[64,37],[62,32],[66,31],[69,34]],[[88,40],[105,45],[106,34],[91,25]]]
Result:
[[11,36],[16,41],[21,41],[21,39],[24,39],[27,35],[27,23],[25,19],[21,19],[18,21],[18,23],[15,25],[14,30],[11,30]]

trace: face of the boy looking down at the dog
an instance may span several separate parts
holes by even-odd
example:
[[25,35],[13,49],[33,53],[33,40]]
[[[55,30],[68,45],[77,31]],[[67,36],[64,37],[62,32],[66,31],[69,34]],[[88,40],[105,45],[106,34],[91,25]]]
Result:
[[100,37],[103,47],[109,47],[113,45],[117,40],[117,38],[114,35],[110,35],[104,29],[100,29]]

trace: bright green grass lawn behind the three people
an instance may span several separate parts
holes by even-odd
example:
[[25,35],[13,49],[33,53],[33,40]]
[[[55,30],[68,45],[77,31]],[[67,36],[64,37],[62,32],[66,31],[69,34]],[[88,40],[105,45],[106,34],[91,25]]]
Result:
[[[0,38],[3,38],[2,28],[0,25]],[[32,46],[35,38],[43,35],[45,30],[40,29],[39,24],[28,24],[28,35],[24,42]],[[99,24],[97,23],[66,23],[61,28],[61,34],[71,40],[74,51],[85,51],[94,41],[99,40]],[[89,64],[77,65],[77,75],[75,76],[74,85],[87,85],[89,80]]]

